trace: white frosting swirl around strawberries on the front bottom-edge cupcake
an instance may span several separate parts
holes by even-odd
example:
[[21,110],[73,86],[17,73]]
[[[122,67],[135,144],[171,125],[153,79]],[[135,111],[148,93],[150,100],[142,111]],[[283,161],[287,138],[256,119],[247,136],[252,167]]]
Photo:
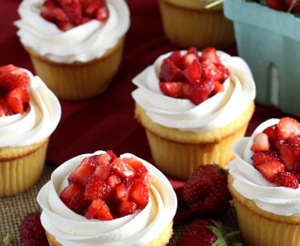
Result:
[[144,159],[126,153],[122,157],[135,157],[142,161],[152,175],[150,200],[144,210],[115,220],[87,220],[68,209],[59,199],[67,185],[67,176],[86,156],[67,160],[53,172],[51,179],[39,191],[37,201],[43,209],[41,221],[46,231],[62,245],[145,245],[153,241],[173,220],[177,208],[175,191],[165,175]]

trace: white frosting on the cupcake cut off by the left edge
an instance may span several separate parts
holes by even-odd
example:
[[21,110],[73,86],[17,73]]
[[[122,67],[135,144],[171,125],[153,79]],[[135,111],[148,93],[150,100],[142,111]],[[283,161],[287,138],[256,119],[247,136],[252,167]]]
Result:
[[57,127],[61,107],[55,94],[40,77],[22,68],[29,76],[30,102],[24,114],[0,117],[0,148],[25,146],[47,138]]

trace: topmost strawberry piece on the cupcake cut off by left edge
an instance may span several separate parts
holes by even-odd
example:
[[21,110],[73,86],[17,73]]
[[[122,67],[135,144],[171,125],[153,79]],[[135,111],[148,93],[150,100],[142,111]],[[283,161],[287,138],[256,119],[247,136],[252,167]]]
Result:
[[13,90],[16,87],[28,87],[29,77],[26,72],[14,65],[0,67],[0,87]]

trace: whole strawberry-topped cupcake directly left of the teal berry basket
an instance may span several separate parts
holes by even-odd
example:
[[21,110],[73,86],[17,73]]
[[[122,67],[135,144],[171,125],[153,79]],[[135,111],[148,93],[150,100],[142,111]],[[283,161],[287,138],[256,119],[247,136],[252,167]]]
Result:
[[233,158],[232,144],[255,108],[255,82],[242,58],[191,47],[159,56],[133,82],[135,118],[165,174],[187,179],[198,165],[225,167]]

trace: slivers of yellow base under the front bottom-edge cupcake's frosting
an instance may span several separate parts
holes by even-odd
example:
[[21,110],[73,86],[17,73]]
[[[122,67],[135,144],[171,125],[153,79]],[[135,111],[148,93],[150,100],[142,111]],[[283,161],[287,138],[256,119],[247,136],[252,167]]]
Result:
[[[172,233],[173,220],[167,225],[165,230],[162,231],[154,241],[147,243],[146,246],[165,246],[169,242]],[[62,246],[62,244],[55,240],[55,236],[49,233],[49,231],[45,231],[45,235],[50,246]]]

